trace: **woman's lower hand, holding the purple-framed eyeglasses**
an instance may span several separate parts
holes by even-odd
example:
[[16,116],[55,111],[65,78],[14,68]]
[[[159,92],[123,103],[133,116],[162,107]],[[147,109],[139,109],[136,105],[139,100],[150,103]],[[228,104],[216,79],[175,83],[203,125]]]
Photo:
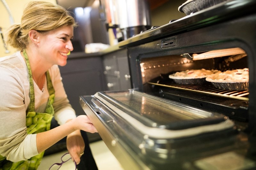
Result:
[[67,149],[72,160],[80,163],[80,154],[84,152],[84,139],[80,130],[76,130],[67,136]]

